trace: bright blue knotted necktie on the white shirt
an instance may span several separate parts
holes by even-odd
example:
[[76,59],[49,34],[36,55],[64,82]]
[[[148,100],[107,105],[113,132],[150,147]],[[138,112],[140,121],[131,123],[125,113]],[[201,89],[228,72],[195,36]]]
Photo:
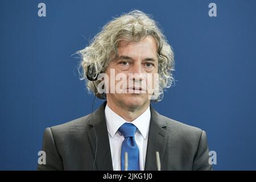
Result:
[[125,152],[128,153],[128,171],[139,171],[139,147],[135,142],[137,127],[132,123],[125,123],[118,131],[125,137],[121,149],[121,170],[125,170]]

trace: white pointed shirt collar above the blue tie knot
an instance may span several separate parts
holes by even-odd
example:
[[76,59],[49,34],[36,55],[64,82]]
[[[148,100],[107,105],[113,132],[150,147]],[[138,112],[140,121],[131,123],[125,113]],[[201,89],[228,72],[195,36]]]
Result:
[[[105,107],[105,117],[106,117],[108,132],[112,138],[117,133],[119,127],[127,122],[121,116],[116,114],[112,109],[110,109],[108,106],[108,103],[106,104],[106,107]],[[148,108],[146,109],[146,111],[144,111],[144,113],[139,115],[139,117],[134,119],[134,121],[130,122],[137,127],[137,129],[139,130],[139,132],[141,133],[144,139],[146,139],[148,135],[150,117],[151,117],[150,107],[148,106]]]

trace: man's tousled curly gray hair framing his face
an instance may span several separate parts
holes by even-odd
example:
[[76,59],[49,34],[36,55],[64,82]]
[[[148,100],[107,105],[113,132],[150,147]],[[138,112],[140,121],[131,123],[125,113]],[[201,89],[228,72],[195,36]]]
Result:
[[118,44],[121,40],[139,42],[148,35],[155,38],[158,47],[159,95],[158,99],[154,101],[162,100],[164,89],[170,88],[174,82],[172,76],[174,53],[155,20],[139,10],[114,18],[102,28],[101,32],[94,36],[89,46],[77,51],[81,57],[78,68],[80,79],[86,80],[87,89],[96,94],[98,98],[105,99],[105,93],[97,92],[97,86],[101,81],[93,82],[86,79],[88,67],[93,66],[95,68],[95,75],[104,72],[108,68],[110,56],[118,57]]

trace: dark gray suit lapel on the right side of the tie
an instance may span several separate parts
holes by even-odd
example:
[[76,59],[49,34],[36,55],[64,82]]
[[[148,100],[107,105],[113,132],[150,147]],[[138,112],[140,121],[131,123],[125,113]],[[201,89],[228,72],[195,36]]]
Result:
[[163,159],[166,151],[168,135],[165,127],[166,123],[160,118],[154,108],[150,105],[151,119],[150,119],[150,129],[148,131],[148,142],[147,142],[147,154],[146,154],[146,163],[145,171],[155,171],[157,170],[156,166],[156,151],[159,152],[161,169],[163,168]]

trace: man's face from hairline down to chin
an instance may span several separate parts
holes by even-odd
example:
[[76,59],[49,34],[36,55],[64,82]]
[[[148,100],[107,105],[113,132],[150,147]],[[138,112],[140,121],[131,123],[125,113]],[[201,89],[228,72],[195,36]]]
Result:
[[[114,76],[122,76],[115,77],[115,82],[111,83],[113,71]],[[111,72],[112,74],[110,74]],[[134,43],[124,40],[119,42],[118,58],[110,62],[105,73],[109,77],[109,81],[105,83],[106,88],[109,88],[109,93],[106,93],[108,102],[112,102],[115,106],[131,109],[148,106],[150,104],[148,85],[154,89],[154,73],[158,73],[155,39],[152,36],[147,36],[141,42]],[[111,90],[114,92],[110,93]]]

